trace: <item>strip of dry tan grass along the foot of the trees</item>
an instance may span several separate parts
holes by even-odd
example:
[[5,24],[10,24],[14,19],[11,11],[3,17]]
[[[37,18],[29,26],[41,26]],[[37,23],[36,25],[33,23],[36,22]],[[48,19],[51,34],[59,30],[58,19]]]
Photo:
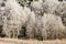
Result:
[[66,41],[65,40],[36,41],[36,40],[0,38],[0,44],[66,44]]

